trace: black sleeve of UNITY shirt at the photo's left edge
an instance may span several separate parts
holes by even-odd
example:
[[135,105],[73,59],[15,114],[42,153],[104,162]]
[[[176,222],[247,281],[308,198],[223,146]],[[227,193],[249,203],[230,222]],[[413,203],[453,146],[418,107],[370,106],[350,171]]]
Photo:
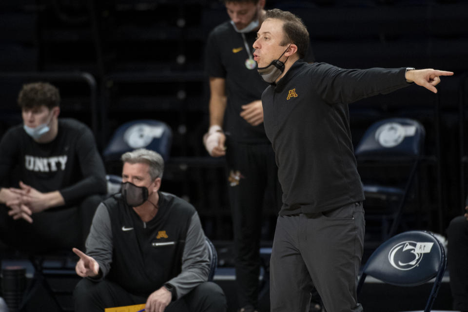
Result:
[[10,187],[9,176],[18,164],[19,139],[13,129],[8,130],[0,141],[0,187]]

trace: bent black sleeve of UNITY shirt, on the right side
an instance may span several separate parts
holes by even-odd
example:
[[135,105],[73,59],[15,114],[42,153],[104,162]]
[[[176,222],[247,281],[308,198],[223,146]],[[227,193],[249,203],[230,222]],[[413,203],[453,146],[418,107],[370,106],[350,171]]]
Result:
[[83,128],[77,139],[75,151],[83,178],[60,190],[65,203],[82,199],[90,194],[105,194],[107,189],[104,164],[90,129]]

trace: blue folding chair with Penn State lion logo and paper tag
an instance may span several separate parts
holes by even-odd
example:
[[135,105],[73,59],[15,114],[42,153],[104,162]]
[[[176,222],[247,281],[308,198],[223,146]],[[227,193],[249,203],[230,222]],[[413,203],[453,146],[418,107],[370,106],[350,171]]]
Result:
[[434,279],[424,312],[431,311],[447,267],[441,242],[426,231],[408,231],[381,244],[368,259],[358,282],[361,292],[364,280],[372,276],[395,286],[418,286]]

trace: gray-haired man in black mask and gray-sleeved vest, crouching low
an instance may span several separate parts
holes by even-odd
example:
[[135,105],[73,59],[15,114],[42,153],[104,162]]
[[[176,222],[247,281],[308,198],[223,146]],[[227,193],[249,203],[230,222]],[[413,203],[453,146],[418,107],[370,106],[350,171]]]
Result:
[[76,272],[75,311],[144,304],[147,312],[222,312],[226,298],[208,282],[210,260],[195,208],[160,192],[162,157],[122,155],[122,189],[103,201]]

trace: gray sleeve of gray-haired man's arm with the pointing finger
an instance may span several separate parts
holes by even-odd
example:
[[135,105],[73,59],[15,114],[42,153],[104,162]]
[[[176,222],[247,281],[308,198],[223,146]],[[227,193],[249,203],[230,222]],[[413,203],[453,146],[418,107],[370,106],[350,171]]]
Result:
[[100,203],[93,217],[88,238],[86,239],[86,254],[98,261],[99,269],[102,272],[99,279],[104,278],[109,273],[112,262],[112,250],[111,218],[106,206]]

